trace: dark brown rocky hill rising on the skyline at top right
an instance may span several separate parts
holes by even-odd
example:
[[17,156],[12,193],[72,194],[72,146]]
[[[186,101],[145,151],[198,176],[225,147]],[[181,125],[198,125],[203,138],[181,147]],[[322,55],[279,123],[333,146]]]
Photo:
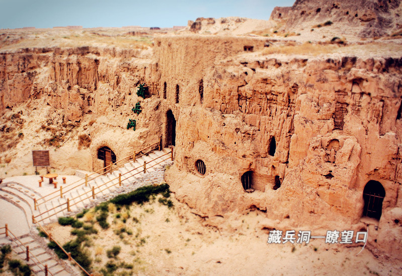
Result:
[[[278,9],[283,10],[275,8],[271,14],[272,19],[279,18]],[[381,37],[400,29],[401,12],[400,1],[342,0],[320,1],[318,4],[316,1],[296,0],[291,9],[284,13],[287,14],[285,30],[295,32],[300,28],[311,28],[331,21],[334,26],[348,26],[343,29],[343,35],[357,30],[360,37]]]

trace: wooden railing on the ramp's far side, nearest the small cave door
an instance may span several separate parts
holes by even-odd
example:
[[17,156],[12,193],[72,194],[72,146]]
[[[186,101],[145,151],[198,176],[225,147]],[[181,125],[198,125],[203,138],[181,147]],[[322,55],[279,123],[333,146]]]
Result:
[[[71,183],[71,184],[64,185],[64,189],[65,189],[66,187],[69,187],[68,190],[64,190],[64,191],[63,191],[63,188],[60,187],[60,190],[56,190],[56,191],[54,191],[54,192],[52,192],[52,193],[50,193],[50,194],[47,194],[47,195],[45,195],[45,196],[43,196],[43,197],[41,197],[41,198],[38,198],[38,199],[35,198],[35,199],[34,199],[34,208],[35,208],[35,210],[37,210],[37,207],[38,207],[38,206],[40,206],[40,205],[42,205],[42,204],[44,204],[44,203],[46,203],[46,202],[48,202],[48,201],[50,201],[50,200],[55,199],[56,197],[58,197],[58,196],[59,196],[59,195],[58,195],[59,192],[60,192],[60,196],[63,197],[63,193],[68,193],[69,191],[71,191],[71,190],[73,190],[73,189],[76,189],[77,187],[79,187],[79,186],[81,186],[81,185],[83,185],[83,184],[85,184],[85,187],[86,187],[86,186],[88,185],[88,178],[89,178],[90,176],[93,176],[94,174],[98,174],[98,175],[95,176],[95,177],[93,177],[93,178],[91,179],[91,181],[94,180],[95,178],[98,178],[98,177],[103,176],[103,175],[105,175],[105,174],[112,173],[113,170],[116,170],[117,168],[124,166],[125,164],[129,163],[129,162],[132,161],[132,160],[135,161],[136,158],[142,157],[143,155],[146,155],[146,154],[148,154],[148,153],[150,153],[150,152],[156,150],[157,148],[159,148],[159,151],[160,151],[160,150],[162,149],[162,144],[161,144],[161,143],[162,143],[161,141],[159,141],[159,142],[157,142],[157,143],[154,143],[154,144],[152,144],[152,145],[150,145],[150,146],[148,146],[148,147],[143,148],[142,150],[140,150],[140,151],[138,151],[138,152],[134,152],[133,154],[131,154],[131,155],[129,155],[129,156],[123,158],[123,159],[120,159],[119,161],[117,161],[117,162],[114,163],[114,164],[110,164],[109,166],[107,166],[107,167],[105,167],[105,168],[102,168],[102,169],[100,169],[100,170],[98,170],[98,171],[96,171],[96,172],[93,172],[93,173],[90,174],[90,175],[85,175],[85,177],[83,177],[83,178],[81,178],[81,179],[79,179],[79,180],[77,180],[77,181],[75,181],[75,182],[73,182],[73,183]],[[155,148],[155,146],[158,146],[158,147]],[[127,160],[127,161],[123,162],[124,160]],[[121,162],[123,162],[123,163],[121,163]],[[120,163],[120,164],[118,164],[118,163]],[[102,174],[99,174],[99,172],[102,172],[102,171],[104,171],[104,172],[103,172]],[[81,183],[80,183],[80,182],[81,182]],[[73,186],[73,187],[71,187],[71,186],[74,185],[74,184],[76,184],[76,185]],[[55,195],[55,194],[56,194],[56,195]],[[52,195],[53,195],[53,197],[48,198],[49,196],[52,196]],[[46,198],[47,198],[47,199],[46,199]],[[39,202],[39,201],[41,201],[41,200],[42,200],[42,202]]]

